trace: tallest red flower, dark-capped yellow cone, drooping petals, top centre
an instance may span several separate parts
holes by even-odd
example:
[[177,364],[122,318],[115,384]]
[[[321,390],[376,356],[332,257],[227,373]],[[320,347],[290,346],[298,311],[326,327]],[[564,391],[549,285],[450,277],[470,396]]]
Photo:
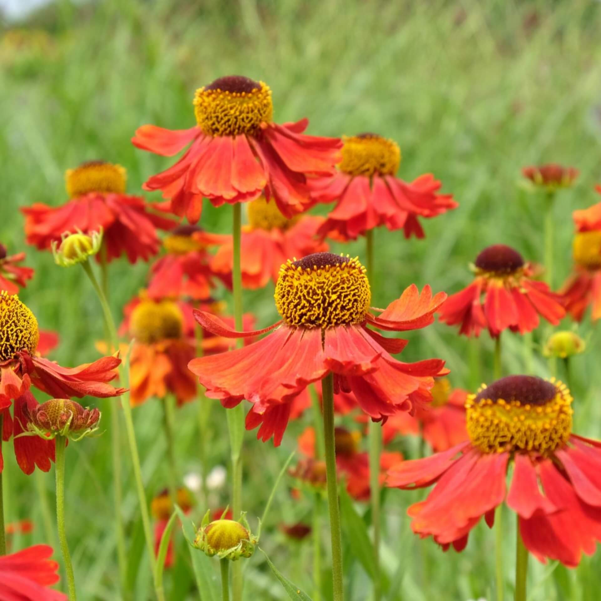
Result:
[[340,159],[337,138],[304,135],[308,121],[273,123],[271,90],[240,76],[216,79],[194,97],[197,125],[169,130],[143,125],[133,144],[173,156],[188,144],[171,168],[153,175],[145,190],[161,190],[176,215],[195,223],[203,197],[213,206],[254,200],[264,191],[287,217],[311,204],[308,177],[331,175]]

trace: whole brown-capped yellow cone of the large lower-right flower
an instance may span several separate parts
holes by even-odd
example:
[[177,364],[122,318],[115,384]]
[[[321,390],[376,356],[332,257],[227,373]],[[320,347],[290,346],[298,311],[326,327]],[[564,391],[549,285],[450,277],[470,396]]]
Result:
[[508,376],[466,401],[467,428],[484,453],[552,453],[572,433],[572,396],[560,382]]

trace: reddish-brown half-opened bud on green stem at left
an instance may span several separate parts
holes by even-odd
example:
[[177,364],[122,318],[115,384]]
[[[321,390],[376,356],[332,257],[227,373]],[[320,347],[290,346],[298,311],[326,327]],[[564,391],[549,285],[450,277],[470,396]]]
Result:
[[66,436],[76,442],[98,430],[100,415],[69,398],[51,398],[28,412],[28,429],[43,438]]

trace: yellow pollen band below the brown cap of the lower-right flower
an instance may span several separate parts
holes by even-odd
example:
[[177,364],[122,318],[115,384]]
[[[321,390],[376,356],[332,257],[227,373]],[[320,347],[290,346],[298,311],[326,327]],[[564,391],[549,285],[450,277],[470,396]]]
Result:
[[[471,394],[466,401],[467,429],[472,444],[483,453],[535,451],[544,456],[567,442],[572,433],[572,395],[551,380],[555,397],[544,404],[522,403]],[[486,388],[478,395],[486,397]]]

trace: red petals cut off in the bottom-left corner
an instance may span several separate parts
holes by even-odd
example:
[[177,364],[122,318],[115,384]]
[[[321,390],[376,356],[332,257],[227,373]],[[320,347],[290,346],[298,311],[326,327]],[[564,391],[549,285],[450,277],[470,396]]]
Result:
[[34,545],[0,557],[0,601],[67,601],[47,588],[58,582],[58,563],[50,560],[52,547]]

